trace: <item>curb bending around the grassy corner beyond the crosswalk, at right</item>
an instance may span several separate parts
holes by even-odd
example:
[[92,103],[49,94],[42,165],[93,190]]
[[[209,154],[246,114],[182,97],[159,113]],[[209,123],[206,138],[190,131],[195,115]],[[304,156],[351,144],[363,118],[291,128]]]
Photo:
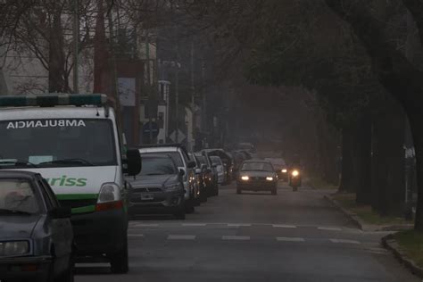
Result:
[[358,228],[360,228],[363,231],[400,231],[400,230],[409,230],[412,229],[413,226],[411,225],[372,225],[365,223],[363,220],[360,219],[360,217],[357,216],[352,211],[346,210],[341,204],[339,204],[334,198],[332,198],[330,195],[324,195],[324,198],[334,205],[338,210],[342,211],[344,215],[352,220],[354,225],[356,225]]

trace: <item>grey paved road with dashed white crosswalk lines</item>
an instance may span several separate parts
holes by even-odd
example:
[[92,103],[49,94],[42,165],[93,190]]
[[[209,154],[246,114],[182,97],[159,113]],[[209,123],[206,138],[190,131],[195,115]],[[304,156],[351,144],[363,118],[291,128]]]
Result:
[[79,264],[82,281],[419,281],[319,191],[236,195],[222,187],[187,220],[130,222],[130,272]]

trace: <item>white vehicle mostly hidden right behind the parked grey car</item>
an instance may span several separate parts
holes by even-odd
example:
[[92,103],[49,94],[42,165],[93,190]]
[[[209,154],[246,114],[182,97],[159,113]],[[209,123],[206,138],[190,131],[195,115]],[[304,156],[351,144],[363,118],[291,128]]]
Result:
[[170,155],[173,162],[176,163],[178,169],[185,171],[183,176],[183,183],[185,188],[185,205],[188,212],[194,211],[196,198],[199,196],[195,191],[195,162],[189,159],[187,149],[183,145],[143,145],[139,149],[139,153],[162,153]]

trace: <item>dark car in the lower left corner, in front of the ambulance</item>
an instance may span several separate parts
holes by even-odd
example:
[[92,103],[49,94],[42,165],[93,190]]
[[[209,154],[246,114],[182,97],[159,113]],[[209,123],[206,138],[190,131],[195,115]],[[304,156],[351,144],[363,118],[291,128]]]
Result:
[[0,280],[73,281],[71,208],[40,174],[0,171]]

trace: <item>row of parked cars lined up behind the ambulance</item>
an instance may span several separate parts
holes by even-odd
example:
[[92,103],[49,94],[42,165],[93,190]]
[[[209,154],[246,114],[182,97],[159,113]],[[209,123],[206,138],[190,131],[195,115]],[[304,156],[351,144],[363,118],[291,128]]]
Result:
[[131,218],[163,213],[185,220],[233,179],[231,158],[221,149],[194,153],[177,144],[144,145],[139,153],[143,169],[127,178]]

